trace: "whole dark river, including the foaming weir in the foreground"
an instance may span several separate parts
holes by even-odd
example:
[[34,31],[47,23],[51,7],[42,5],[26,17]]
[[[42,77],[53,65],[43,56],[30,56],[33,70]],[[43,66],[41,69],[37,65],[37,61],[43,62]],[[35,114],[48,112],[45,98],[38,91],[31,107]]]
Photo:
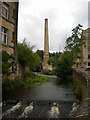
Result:
[[3,117],[68,118],[76,100],[72,84],[52,76],[42,85],[3,93]]

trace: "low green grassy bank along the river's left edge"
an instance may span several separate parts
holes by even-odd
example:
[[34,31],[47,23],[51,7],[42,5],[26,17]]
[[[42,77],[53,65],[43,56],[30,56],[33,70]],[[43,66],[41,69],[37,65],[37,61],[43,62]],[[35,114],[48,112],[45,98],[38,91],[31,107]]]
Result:
[[41,85],[47,81],[48,81],[48,77],[39,76],[29,71],[25,73],[22,79],[8,80],[7,82],[3,83],[2,90],[3,91],[14,90],[21,86],[33,87],[33,86]]

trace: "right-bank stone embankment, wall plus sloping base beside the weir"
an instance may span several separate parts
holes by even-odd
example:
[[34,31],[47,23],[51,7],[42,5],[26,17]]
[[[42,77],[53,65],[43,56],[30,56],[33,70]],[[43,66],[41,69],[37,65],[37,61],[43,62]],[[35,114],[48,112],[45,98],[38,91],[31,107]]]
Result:
[[73,105],[72,116],[88,118],[90,117],[90,71],[73,70],[73,85],[75,93],[81,96],[81,103]]

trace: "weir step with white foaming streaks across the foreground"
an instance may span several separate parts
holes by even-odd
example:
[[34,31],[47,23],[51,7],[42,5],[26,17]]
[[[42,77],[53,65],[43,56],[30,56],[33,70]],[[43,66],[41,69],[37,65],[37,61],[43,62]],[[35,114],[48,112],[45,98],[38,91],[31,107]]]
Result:
[[4,101],[2,118],[69,118],[74,101]]

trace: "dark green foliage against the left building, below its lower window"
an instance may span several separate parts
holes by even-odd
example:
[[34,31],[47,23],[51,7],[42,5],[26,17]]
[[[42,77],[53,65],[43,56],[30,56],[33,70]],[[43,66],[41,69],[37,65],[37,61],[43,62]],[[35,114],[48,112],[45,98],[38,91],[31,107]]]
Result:
[[12,55],[9,55],[6,51],[2,51],[2,73],[8,74],[9,68],[11,67],[11,60]]

